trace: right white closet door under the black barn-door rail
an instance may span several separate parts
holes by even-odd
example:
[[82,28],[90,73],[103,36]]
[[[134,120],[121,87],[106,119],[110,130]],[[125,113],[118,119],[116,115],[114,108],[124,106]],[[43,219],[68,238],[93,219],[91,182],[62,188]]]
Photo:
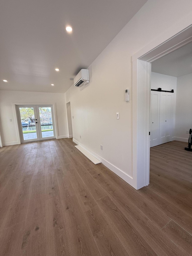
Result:
[[172,119],[172,95],[168,92],[161,92],[159,144],[163,144],[172,140]]

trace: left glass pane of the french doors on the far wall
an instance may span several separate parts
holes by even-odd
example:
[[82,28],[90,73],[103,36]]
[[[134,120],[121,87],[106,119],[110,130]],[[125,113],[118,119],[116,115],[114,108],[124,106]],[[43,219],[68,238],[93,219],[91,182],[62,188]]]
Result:
[[33,107],[19,107],[23,140],[37,139],[35,114]]

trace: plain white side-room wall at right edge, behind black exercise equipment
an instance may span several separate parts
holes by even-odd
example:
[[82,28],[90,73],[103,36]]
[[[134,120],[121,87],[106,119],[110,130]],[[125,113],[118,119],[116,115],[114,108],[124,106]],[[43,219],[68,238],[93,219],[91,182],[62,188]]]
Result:
[[177,78],[175,139],[188,142],[192,129],[192,73]]

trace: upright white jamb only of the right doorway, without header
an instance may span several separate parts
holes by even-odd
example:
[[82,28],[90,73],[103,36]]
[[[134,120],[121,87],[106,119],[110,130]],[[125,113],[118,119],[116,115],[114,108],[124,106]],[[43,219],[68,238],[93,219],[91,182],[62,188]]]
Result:
[[149,185],[151,63],[133,62],[133,84],[133,183],[139,189]]

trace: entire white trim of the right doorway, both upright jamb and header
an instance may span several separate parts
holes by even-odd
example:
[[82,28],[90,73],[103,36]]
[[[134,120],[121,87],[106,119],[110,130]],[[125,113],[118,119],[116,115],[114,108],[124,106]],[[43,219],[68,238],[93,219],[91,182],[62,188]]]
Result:
[[[186,17],[186,20],[182,20],[180,23],[175,24],[174,27],[168,29],[163,35],[132,56],[133,186],[136,189],[149,185],[150,63],[192,41],[191,17]],[[187,23],[191,25],[188,26]]]

